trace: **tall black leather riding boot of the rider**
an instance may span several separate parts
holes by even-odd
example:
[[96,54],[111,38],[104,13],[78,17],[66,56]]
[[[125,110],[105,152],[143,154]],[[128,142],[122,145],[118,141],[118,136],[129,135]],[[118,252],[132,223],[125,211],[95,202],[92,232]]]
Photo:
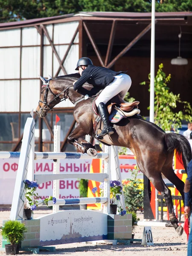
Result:
[[103,121],[103,130],[100,134],[97,135],[96,139],[102,140],[103,137],[106,134],[113,134],[114,133],[114,128],[111,127],[111,125],[109,124],[109,119],[108,119],[108,112],[107,109],[105,107],[105,104],[103,102],[99,103],[98,105],[98,110],[99,110],[99,114],[101,116],[101,119]]

